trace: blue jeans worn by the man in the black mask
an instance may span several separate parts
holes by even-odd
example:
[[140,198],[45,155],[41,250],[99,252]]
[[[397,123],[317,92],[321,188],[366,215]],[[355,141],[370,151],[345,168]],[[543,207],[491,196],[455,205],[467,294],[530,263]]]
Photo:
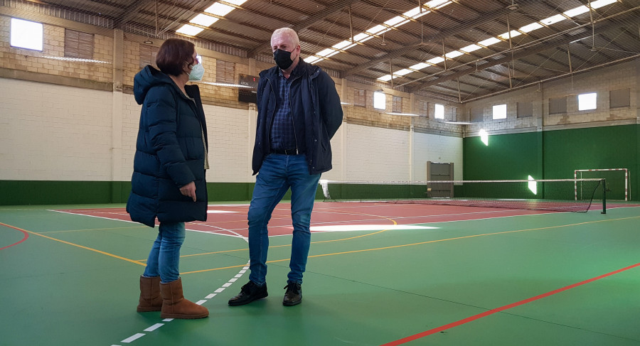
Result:
[[291,188],[291,218],[293,239],[289,261],[288,282],[302,283],[306,257],[311,243],[311,210],[314,208],[319,174],[310,175],[306,156],[270,154],[262,162],[255,179],[255,188],[249,207],[249,279],[258,286],[267,277],[267,251],[269,234],[267,224],[284,193]]

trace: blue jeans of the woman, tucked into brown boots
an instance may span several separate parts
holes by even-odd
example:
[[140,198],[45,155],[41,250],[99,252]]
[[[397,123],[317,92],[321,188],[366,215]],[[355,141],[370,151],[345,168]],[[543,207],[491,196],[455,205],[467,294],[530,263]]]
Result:
[[160,276],[162,283],[178,280],[180,248],[184,242],[184,222],[161,222],[158,237],[146,260],[144,276]]

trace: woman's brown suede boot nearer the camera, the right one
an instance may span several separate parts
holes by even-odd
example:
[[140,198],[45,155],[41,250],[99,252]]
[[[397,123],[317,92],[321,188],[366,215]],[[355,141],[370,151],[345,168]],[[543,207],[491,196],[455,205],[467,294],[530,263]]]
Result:
[[205,318],[209,310],[204,306],[187,301],[182,295],[182,279],[160,283],[162,296],[161,318]]

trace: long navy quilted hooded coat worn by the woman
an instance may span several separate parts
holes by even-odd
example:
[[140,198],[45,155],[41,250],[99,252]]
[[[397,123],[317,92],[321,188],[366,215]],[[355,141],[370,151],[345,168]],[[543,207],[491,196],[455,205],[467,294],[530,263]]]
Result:
[[[134,97],[142,112],[127,212],[149,227],[156,217],[159,222],[207,219],[206,121],[198,86],[186,85],[185,90],[188,97],[151,66],[134,77]],[[191,181],[196,183],[196,202],[180,193]]]

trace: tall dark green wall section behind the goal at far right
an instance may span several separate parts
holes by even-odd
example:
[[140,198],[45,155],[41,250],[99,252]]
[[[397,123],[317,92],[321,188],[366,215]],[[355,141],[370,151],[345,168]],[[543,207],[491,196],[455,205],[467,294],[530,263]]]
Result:
[[[631,200],[640,200],[640,124],[592,127],[464,139],[465,180],[570,179],[576,169],[629,169]],[[607,198],[624,199],[622,173],[594,173],[606,178]],[[601,198],[599,193],[595,198]]]

